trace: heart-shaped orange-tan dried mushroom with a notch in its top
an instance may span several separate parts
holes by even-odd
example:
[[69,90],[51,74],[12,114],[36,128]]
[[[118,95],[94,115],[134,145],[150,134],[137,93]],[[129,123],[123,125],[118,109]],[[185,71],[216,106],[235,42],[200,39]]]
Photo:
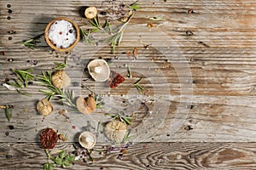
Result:
[[96,110],[96,101],[93,97],[79,97],[77,99],[77,108],[81,113],[90,114]]

